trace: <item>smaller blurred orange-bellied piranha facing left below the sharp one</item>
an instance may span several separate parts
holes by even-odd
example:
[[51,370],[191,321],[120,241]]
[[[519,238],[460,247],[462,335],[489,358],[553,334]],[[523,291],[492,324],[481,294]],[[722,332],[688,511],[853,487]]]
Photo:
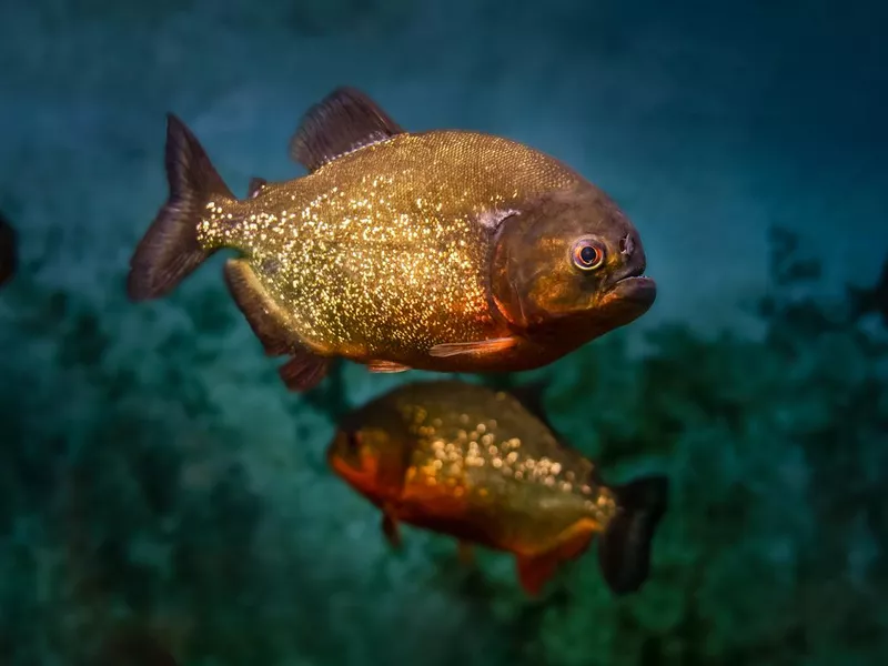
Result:
[[605,484],[529,404],[451,380],[403,385],[346,415],[327,461],[381,508],[394,547],[405,523],[456,537],[463,558],[474,544],[513,553],[522,587],[537,595],[597,536],[608,587],[639,589],[668,480]]

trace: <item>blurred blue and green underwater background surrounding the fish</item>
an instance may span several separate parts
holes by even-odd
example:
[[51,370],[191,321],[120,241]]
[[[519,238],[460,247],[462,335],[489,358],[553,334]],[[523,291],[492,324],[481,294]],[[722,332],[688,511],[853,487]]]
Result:
[[[3,0],[0,63],[0,664],[98,664],[132,630],[194,666],[888,663],[888,6]],[[225,253],[128,302],[164,114],[243,195],[303,173],[287,141],[342,84],[544,150],[638,228],[649,313],[464,379],[542,381],[608,481],[669,475],[639,593],[594,554],[534,599],[507,555],[391,551],[324,450],[440,375],[285,391]]]

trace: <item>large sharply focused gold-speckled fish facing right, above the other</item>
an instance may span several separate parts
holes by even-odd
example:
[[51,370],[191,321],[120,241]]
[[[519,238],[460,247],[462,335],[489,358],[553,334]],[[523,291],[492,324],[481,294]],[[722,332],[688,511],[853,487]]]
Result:
[[307,170],[238,199],[168,114],[169,198],[137,245],[132,302],[174,290],[213,253],[292,391],[345,359],[374,373],[519,372],[626,325],[654,303],[638,231],[559,160],[466,130],[408,132],[339,88],[290,143]]

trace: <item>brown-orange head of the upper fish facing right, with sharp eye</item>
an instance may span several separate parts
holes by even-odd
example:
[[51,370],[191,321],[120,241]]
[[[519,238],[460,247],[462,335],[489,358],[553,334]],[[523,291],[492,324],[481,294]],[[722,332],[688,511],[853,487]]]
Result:
[[638,319],[656,283],[638,231],[583,183],[529,202],[497,230],[491,293],[509,325],[582,344]]

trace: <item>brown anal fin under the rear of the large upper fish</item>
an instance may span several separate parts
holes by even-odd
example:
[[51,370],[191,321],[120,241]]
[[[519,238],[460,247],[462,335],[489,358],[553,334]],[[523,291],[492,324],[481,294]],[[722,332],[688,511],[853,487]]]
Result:
[[225,263],[225,284],[246,323],[269,356],[292,356],[279,370],[291,391],[304,392],[316,386],[326,374],[330,361],[307,350],[283,323],[280,307],[265,293],[250,264],[242,259]]

